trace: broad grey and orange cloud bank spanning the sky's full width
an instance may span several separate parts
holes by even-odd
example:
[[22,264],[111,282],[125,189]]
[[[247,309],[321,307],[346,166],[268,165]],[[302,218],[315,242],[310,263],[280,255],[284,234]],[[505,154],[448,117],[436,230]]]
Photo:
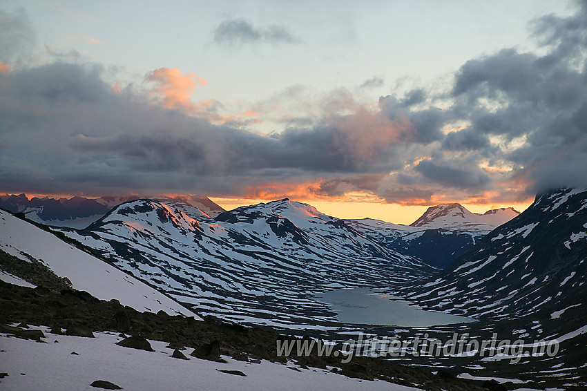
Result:
[[[151,95],[113,90],[99,66],[11,69],[0,73],[0,190],[358,192],[432,204],[514,202],[549,187],[587,187],[587,40],[577,28],[584,12],[536,22],[544,54],[500,50],[465,62],[447,90],[422,86],[370,107],[340,88],[271,135],[240,128],[261,110],[228,115],[214,99],[193,103],[203,79],[175,68],[146,75]],[[269,29],[243,23],[235,30],[241,37],[266,39]],[[294,86],[281,95],[264,107],[312,91]]]

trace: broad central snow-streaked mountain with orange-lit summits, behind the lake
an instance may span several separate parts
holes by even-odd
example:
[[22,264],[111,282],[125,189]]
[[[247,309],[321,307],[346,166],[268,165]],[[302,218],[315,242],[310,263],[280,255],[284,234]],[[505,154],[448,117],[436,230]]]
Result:
[[436,271],[287,198],[211,220],[136,200],[87,229],[61,231],[202,314],[276,327],[335,319],[314,298],[326,290],[405,284]]

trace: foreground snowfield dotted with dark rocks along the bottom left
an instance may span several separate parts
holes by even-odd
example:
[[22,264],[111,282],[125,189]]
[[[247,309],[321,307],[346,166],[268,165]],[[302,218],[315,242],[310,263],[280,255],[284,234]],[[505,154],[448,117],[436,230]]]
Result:
[[[115,345],[122,338],[114,333],[95,332],[96,338],[61,336],[48,333],[47,343],[0,334],[0,388],[12,391],[100,390],[91,387],[105,380],[126,391],[147,390],[386,390],[412,391],[385,381],[361,381],[315,368],[301,369],[294,363],[269,361],[247,363],[229,356],[227,363],[189,357],[171,357],[166,342],[149,341],[155,352]],[[73,354],[73,352],[77,354]],[[190,352],[184,351],[186,356]],[[295,369],[292,369],[295,368]],[[238,370],[246,376],[220,372]]]

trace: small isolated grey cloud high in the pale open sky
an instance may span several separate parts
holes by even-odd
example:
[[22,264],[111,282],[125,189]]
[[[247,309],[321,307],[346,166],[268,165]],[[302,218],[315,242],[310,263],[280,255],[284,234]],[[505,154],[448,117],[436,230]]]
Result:
[[298,42],[287,28],[278,25],[257,28],[247,19],[226,19],[212,31],[213,40],[219,44],[237,45],[267,42],[271,44],[295,44]]

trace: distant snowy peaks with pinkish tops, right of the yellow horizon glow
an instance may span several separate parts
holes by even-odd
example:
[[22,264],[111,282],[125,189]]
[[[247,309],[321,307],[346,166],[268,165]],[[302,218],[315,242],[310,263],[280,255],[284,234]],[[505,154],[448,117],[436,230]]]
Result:
[[446,229],[489,233],[520,213],[513,208],[492,209],[483,214],[472,213],[461,204],[440,204],[430,207],[410,226],[420,229]]

